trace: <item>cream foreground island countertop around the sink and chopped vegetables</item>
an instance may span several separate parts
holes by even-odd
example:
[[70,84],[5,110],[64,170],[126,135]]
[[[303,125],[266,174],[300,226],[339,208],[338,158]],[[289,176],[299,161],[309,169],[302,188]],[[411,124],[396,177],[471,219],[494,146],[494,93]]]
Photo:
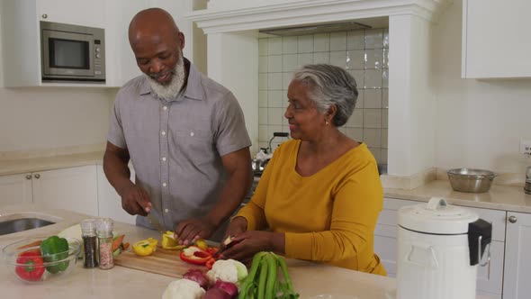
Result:
[[[46,210],[34,205],[16,205],[0,209],[2,216],[12,213],[40,213],[57,216],[58,222],[47,227],[0,236],[0,247],[37,235],[56,234],[85,219],[86,216],[64,210]],[[149,231],[121,222],[115,231],[125,233],[127,241],[148,237],[159,239],[157,231]],[[392,277],[375,276],[339,267],[330,267],[302,260],[288,259],[295,290],[301,298],[317,294],[350,295],[349,298],[389,299],[396,289]],[[0,289],[5,298],[160,298],[173,277],[151,274],[126,267],[85,269],[80,261],[76,269],[59,281],[27,285],[19,281],[7,267],[0,267]],[[478,296],[478,299],[484,297]]]

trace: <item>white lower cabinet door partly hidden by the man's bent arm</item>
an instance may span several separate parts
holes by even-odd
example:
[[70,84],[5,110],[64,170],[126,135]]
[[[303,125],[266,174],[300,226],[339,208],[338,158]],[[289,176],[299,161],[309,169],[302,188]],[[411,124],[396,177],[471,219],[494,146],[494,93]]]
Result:
[[[131,169],[130,178],[134,181],[134,170]],[[114,221],[135,223],[136,216],[132,216],[121,208],[121,197],[105,177],[103,166],[97,166],[98,177],[98,208],[100,217],[110,217]]]

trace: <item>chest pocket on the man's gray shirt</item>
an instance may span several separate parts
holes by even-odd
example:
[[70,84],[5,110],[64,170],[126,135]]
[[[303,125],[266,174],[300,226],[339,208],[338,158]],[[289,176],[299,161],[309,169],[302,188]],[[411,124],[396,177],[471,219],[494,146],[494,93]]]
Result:
[[216,159],[217,150],[212,139],[209,131],[181,129],[174,133],[175,147],[180,149],[177,154],[195,166],[213,163]]

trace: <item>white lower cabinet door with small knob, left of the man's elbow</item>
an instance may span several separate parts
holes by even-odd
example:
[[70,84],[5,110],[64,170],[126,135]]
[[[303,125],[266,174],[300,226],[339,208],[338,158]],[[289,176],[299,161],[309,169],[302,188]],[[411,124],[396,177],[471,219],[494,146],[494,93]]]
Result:
[[96,166],[33,173],[33,203],[98,215]]

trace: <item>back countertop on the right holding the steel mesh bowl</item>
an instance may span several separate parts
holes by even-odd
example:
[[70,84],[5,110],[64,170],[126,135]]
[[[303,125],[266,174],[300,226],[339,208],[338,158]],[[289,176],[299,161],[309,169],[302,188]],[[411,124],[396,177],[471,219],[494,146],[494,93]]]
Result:
[[431,197],[442,197],[450,204],[531,213],[531,195],[519,186],[492,185],[489,192],[464,193],[454,191],[448,180],[435,180],[412,190],[385,188],[384,196],[421,202],[428,202]]

